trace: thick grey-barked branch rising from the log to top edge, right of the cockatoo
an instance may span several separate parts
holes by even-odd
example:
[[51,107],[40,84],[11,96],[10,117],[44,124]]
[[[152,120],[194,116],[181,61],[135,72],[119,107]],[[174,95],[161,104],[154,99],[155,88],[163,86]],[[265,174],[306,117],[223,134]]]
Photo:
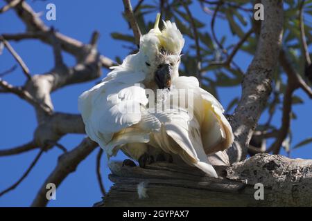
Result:
[[[284,24],[283,1],[262,1],[264,20],[257,51],[242,83],[242,96],[231,120],[234,144],[227,151],[230,162],[244,159],[258,119],[271,92]],[[248,117],[246,117],[248,116]]]

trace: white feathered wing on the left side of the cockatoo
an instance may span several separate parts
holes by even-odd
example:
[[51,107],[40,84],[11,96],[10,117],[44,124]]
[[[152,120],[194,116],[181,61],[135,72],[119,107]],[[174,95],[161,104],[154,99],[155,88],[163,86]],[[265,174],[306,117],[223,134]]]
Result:
[[[147,133],[139,131],[144,126],[152,131],[160,128],[159,122],[142,112],[148,99],[144,85],[135,83],[144,79],[144,75],[128,73],[132,77],[125,80],[120,76],[123,74],[110,73],[78,99],[87,135],[109,155],[125,142],[148,142]],[[127,130],[130,127],[135,128]]]

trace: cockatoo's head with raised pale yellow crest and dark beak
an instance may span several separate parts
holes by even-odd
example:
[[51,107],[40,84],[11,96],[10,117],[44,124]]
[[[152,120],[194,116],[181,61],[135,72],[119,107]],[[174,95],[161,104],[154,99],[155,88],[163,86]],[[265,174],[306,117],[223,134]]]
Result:
[[180,53],[184,39],[175,23],[163,21],[164,28],[159,30],[160,14],[157,15],[155,26],[140,39],[139,53],[142,69],[147,74],[146,81],[154,81],[158,88],[170,88],[171,81],[178,77]]

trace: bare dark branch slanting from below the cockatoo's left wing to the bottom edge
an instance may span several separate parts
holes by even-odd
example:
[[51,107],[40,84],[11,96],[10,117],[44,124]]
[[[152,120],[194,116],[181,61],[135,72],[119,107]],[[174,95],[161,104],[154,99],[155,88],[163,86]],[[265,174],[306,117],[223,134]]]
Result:
[[35,200],[31,206],[41,207],[46,206],[48,200],[46,199],[46,184],[53,183],[55,186],[60,186],[63,180],[73,171],[76,171],[77,166],[85,160],[85,158],[94,151],[98,146],[95,142],[85,138],[76,148],[72,151],[63,153],[58,158],[58,164],[41,186],[40,191],[37,193]]

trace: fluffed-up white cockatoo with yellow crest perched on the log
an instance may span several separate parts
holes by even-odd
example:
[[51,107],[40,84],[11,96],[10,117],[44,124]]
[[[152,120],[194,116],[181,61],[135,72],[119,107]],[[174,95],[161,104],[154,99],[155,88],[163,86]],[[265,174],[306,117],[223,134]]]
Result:
[[[207,155],[232,144],[232,128],[223,106],[196,77],[179,76],[184,39],[171,21],[163,21],[159,30],[159,17],[141,37],[139,52],[78,98],[85,131],[108,157],[121,149],[144,166],[166,153],[173,162],[180,159],[218,177]],[[181,102],[180,90],[187,101]],[[173,104],[174,99],[184,105]]]

